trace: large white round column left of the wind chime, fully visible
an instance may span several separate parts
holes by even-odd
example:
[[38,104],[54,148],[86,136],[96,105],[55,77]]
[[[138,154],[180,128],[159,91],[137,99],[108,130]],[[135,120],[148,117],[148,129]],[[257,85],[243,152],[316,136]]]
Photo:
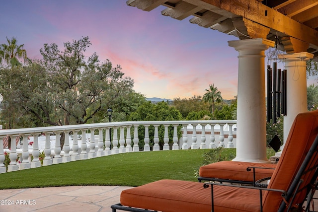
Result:
[[269,163],[266,157],[265,50],[275,42],[229,41],[239,52],[237,156],[234,161]]

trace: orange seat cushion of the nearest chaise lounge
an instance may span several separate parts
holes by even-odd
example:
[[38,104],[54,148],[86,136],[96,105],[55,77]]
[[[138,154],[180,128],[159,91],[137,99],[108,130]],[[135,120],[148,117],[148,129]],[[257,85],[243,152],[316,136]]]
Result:
[[[215,212],[260,211],[259,191],[214,186]],[[124,206],[163,212],[211,212],[211,188],[203,183],[159,180],[122,191]]]

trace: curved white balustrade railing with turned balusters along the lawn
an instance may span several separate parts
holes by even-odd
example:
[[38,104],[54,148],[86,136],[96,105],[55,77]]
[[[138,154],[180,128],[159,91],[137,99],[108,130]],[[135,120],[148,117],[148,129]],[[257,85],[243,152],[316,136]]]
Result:
[[[236,147],[236,123],[236,120],[143,121],[0,130],[0,173],[133,151]],[[142,140],[140,126],[144,127]],[[164,128],[161,147],[160,126]],[[173,128],[172,138],[169,128]],[[61,133],[65,135],[63,149]],[[10,149],[3,142],[8,137]],[[8,153],[11,162],[6,167]],[[44,158],[39,158],[43,153]]]

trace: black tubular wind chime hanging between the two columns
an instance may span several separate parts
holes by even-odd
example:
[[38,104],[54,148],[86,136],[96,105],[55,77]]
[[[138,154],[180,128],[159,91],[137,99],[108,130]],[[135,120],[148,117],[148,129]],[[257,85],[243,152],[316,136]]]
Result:
[[277,62],[281,61],[278,58],[278,41],[276,35],[276,47],[273,52],[269,51],[268,57],[268,64],[272,62],[272,65],[267,65],[267,122],[272,119],[274,124],[277,123],[278,117],[287,115],[287,70],[277,69]]

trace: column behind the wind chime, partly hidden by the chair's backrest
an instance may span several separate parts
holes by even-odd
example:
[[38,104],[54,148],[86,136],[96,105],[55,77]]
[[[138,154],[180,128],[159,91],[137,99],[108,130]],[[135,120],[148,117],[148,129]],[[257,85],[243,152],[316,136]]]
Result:
[[[286,79],[286,105],[287,116],[284,116],[284,144],[280,147],[283,150],[290,128],[295,117],[299,113],[307,111],[307,61],[314,58],[313,54],[302,52],[278,56],[285,60],[287,70]],[[280,156],[277,152],[275,156]]]

